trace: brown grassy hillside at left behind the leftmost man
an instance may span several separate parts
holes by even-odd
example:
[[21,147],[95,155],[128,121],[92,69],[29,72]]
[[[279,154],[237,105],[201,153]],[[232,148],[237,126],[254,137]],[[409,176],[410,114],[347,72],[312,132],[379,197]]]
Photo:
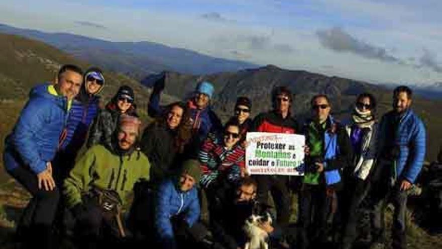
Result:
[[[15,124],[31,88],[39,82],[52,81],[60,66],[66,63],[80,65],[83,69],[89,66],[43,42],[0,34],[0,151],[3,151],[5,136]],[[121,85],[129,85],[135,90],[140,115],[147,120],[150,90],[125,75],[107,71],[103,74],[106,79],[102,92],[103,102],[108,101]],[[175,99],[166,96],[164,101]],[[3,169],[3,160],[0,161],[0,169]],[[3,175],[5,173],[0,170],[0,180]]]

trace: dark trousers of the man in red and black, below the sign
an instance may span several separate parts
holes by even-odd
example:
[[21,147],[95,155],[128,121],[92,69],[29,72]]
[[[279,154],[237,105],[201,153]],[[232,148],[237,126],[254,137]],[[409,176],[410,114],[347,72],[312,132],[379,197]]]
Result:
[[283,229],[290,219],[290,195],[287,188],[288,176],[254,176],[258,183],[259,203],[269,205],[269,191],[276,206],[276,222]]

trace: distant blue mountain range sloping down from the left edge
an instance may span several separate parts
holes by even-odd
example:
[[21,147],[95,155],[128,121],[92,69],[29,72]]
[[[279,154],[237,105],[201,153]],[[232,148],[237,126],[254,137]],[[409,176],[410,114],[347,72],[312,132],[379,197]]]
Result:
[[111,42],[67,33],[46,33],[0,24],[0,32],[21,35],[55,46],[76,58],[135,78],[162,70],[206,74],[258,65],[203,55],[191,50],[142,42]]

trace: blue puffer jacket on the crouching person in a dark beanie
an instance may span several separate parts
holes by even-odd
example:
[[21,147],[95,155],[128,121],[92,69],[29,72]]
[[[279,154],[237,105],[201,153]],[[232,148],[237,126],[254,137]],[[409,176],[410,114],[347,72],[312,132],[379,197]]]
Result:
[[174,243],[170,221],[172,216],[183,215],[189,227],[199,218],[199,201],[195,187],[187,192],[181,192],[177,190],[174,180],[166,180],[159,186],[156,202],[155,226],[157,235],[162,241]]

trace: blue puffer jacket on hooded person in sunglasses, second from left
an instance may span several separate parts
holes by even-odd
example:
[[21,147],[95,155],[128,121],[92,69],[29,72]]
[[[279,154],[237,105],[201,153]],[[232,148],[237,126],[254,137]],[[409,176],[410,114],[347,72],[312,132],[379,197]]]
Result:
[[85,103],[78,98],[72,101],[72,106],[66,122],[66,134],[60,141],[60,150],[76,155],[77,151],[86,141],[93,119],[98,114],[99,98],[88,97]]

